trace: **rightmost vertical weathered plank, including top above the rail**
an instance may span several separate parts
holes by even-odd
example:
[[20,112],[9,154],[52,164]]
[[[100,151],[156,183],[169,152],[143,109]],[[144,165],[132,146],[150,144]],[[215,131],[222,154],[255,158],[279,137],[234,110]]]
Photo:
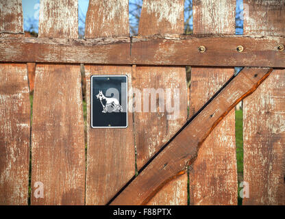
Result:
[[[245,1],[245,34],[284,35],[285,1]],[[274,70],[243,105],[243,205],[285,205],[285,70]]]

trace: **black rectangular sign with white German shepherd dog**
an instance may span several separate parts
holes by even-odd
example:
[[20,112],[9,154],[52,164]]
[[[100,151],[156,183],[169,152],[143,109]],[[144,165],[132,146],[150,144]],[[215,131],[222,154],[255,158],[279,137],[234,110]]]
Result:
[[91,127],[127,127],[127,75],[91,76]]

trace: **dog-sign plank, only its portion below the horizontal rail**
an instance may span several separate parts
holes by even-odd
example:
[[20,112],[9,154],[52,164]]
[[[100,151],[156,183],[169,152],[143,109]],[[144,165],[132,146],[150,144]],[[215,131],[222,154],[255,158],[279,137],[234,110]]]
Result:
[[106,205],[135,175],[133,114],[128,112],[126,129],[92,129],[90,127],[91,75],[127,75],[132,92],[132,67],[86,66],[88,150],[86,205]]

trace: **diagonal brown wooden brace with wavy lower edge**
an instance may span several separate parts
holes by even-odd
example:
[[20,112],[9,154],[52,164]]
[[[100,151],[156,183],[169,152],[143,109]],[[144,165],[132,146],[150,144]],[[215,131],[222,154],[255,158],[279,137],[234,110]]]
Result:
[[[246,96],[252,94],[270,75],[272,68],[245,68],[231,79],[199,114],[188,121],[138,177],[116,197],[111,205],[148,203],[166,183],[186,172],[193,164],[199,148],[217,125]],[[159,176],[159,177],[158,177]]]

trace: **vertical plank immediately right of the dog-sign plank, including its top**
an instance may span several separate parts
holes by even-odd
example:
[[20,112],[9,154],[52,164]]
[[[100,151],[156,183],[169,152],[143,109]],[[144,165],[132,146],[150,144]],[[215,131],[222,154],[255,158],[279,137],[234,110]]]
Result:
[[[145,0],[140,16],[138,29],[139,36],[153,34],[182,34],[184,32],[184,1]],[[184,67],[137,66],[133,77],[133,86],[138,88],[143,99],[146,97],[145,88],[163,89],[166,98],[166,89],[175,93],[171,96],[171,103],[179,104],[177,118],[169,120],[169,114],[164,112],[134,112],[134,131],[137,149],[138,170],[171,138],[187,119],[187,83]],[[163,99],[156,98],[158,102]],[[179,100],[178,100],[179,99]],[[179,102],[178,102],[179,101]],[[166,103],[166,101],[165,101]],[[172,105],[173,106],[173,105]],[[175,112],[177,113],[177,112]],[[167,184],[152,200],[149,205],[187,205],[187,175]]]

